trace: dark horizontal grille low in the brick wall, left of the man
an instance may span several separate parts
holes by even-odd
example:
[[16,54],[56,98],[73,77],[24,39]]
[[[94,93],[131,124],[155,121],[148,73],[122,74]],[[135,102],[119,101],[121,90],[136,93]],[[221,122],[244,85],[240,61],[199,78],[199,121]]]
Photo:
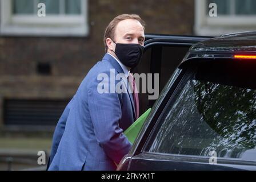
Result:
[[69,100],[4,100],[5,125],[56,125]]

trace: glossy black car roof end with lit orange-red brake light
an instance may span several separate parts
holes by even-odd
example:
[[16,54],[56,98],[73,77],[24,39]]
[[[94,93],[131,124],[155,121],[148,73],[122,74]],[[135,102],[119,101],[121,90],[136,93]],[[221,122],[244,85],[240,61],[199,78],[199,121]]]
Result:
[[[190,47],[181,65],[188,60],[256,59],[256,31],[218,36]],[[181,66],[180,65],[180,66]]]

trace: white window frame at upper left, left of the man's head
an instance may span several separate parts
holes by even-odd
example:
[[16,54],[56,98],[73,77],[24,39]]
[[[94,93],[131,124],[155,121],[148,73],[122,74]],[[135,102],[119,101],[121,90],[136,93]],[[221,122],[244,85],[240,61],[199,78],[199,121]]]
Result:
[[87,18],[88,0],[81,0],[81,14],[49,14],[38,17],[37,14],[13,14],[13,1],[0,0],[1,24],[3,36],[87,36],[89,24]]

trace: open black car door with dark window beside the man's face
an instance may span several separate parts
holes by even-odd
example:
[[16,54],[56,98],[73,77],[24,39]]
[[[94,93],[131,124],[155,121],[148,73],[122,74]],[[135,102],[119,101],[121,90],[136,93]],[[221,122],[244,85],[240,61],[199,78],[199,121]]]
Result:
[[[203,40],[210,39],[212,37],[207,36],[179,36],[179,35],[156,35],[146,34],[145,49],[142,59],[138,66],[131,72],[133,73],[152,73],[152,80],[147,77],[147,88],[152,88],[151,91],[146,90],[143,92],[142,88],[138,88],[139,91],[139,113],[144,113],[149,107],[152,107],[157,95],[149,100],[149,95],[154,95],[152,90],[161,93],[163,86],[169,80],[174,70],[181,63],[183,57],[185,57],[190,46]],[[154,73],[159,74],[159,81],[154,80]],[[158,83],[158,85],[155,85]],[[144,83],[145,84],[145,83]],[[142,83],[140,83],[142,85]],[[140,86],[141,87],[141,86]]]

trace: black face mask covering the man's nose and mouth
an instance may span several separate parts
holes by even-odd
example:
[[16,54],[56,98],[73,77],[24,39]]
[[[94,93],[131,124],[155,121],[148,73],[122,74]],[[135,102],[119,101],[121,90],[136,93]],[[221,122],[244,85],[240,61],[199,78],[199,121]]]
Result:
[[143,49],[144,47],[139,44],[115,43],[114,53],[115,55],[117,55],[121,63],[126,65],[126,67],[134,68],[138,65],[139,61],[141,60]]

